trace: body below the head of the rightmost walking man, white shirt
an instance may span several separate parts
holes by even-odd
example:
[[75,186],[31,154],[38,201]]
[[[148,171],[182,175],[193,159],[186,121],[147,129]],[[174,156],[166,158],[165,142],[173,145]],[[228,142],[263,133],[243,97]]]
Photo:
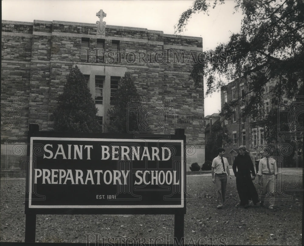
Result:
[[[278,167],[275,159],[269,157],[262,158],[259,162],[259,185],[262,186],[262,196],[265,198],[270,195],[269,208],[273,209],[275,205],[275,183],[278,180]],[[261,206],[264,206],[264,200],[261,200]]]

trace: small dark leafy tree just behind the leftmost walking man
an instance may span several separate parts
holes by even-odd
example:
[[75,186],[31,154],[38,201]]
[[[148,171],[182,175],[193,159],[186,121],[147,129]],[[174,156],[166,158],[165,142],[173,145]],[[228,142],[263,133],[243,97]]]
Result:
[[205,159],[212,161],[219,153],[219,147],[229,144],[232,140],[229,138],[229,132],[221,121],[216,121],[210,128],[210,135],[205,146]]

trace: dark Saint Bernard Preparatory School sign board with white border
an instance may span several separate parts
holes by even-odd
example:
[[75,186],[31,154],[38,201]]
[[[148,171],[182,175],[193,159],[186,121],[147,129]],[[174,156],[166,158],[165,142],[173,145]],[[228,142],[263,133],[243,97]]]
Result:
[[184,136],[47,133],[29,136],[26,211],[185,211]]

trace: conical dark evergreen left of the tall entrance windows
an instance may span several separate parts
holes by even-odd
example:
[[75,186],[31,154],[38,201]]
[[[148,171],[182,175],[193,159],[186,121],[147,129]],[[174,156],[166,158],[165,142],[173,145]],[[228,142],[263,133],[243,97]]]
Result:
[[75,66],[70,70],[58,106],[53,113],[54,130],[59,132],[101,132],[92,94],[85,77]]

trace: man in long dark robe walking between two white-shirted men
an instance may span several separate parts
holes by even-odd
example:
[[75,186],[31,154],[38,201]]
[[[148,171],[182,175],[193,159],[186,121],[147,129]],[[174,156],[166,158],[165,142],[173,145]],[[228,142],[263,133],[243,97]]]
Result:
[[[255,179],[254,166],[250,156],[246,153],[246,147],[239,147],[239,154],[234,159],[232,165],[234,176],[236,177],[237,193],[240,197],[240,205],[249,206],[249,200],[252,200],[254,205],[259,202],[257,190],[252,182]],[[251,174],[252,173],[252,178]]]

